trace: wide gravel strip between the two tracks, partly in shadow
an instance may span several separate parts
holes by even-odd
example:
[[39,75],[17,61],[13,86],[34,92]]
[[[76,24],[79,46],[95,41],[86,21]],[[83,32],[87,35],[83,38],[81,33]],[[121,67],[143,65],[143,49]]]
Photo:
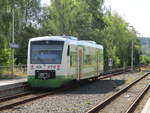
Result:
[[99,80],[87,86],[16,106],[3,113],[84,113],[143,74],[127,73]]

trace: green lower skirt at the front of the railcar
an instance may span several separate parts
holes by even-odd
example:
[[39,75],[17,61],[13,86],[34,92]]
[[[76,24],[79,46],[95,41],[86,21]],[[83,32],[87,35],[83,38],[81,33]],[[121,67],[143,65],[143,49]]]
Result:
[[35,76],[29,75],[28,76],[28,82],[31,85],[31,87],[40,87],[40,88],[58,88],[63,84],[66,84],[73,80],[73,77],[68,78],[63,75],[56,76],[54,79],[49,80],[39,80],[35,79]]

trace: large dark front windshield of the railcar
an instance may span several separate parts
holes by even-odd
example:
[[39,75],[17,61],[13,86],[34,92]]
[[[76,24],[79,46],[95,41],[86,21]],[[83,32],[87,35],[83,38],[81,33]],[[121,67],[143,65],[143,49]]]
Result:
[[61,64],[63,41],[31,42],[31,64]]

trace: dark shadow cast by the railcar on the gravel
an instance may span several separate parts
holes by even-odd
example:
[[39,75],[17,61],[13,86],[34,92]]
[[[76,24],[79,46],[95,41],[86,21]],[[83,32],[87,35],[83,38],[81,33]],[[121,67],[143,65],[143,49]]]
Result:
[[64,92],[63,94],[106,94],[109,92],[118,92],[119,86],[123,85],[125,80],[97,80],[81,85],[73,90]]

